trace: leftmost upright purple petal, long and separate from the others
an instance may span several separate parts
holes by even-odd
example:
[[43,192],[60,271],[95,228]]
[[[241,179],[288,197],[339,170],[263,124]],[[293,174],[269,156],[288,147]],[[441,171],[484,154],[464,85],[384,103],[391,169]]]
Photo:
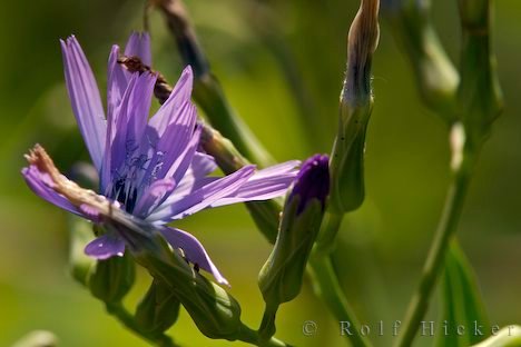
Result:
[[100,171],[105,151],[105,112],[98,86],[75,37],[60,40],[65,78],[72,111],[94,165]]

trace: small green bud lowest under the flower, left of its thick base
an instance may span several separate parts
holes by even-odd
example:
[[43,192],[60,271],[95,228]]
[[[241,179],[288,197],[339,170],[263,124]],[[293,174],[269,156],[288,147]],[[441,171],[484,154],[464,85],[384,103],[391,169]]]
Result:
[[136,308],[136,323],[150,335],[159,335],[171,327],[179,316],[179,299],[163,281],[154,279]]

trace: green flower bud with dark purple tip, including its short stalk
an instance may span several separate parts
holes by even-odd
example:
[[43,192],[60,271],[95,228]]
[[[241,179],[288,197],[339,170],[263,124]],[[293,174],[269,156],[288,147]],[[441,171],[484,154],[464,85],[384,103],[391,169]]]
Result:
[[328,158],[313,156],[303,163],[286,199],[277,240],[259,272],[258,286],[266,303],[260,326],[264,338],[275,333],[274,319],[278,306],[293,300],[301,291],[328,191]]

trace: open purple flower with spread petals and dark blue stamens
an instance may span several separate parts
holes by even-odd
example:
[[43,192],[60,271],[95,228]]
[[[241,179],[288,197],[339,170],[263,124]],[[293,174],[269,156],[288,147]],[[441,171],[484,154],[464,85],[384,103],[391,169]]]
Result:
[[[134,33],[125,56],[137,56],[151,65],[149,44],[147,33]],[[125,212],[155,225],[174,248],[183,249],[189,261],[212,272],[218,282],[227,284],[194,236],[165,225],[206,208],[279,197],[295,178],[299,162],[288,161],[259,171],[246,166],[226,177],[208,176],[216,163],[213,157],[197,150],[200,129],[190,101],[190,67],[183,71],[168,100],[149,118],[156,76],[126,71],[117,62],[119,47],[114,46],[108,62],[105,117],[97,83],[78,41],[70,37],[61,41],[61,49],[72,110],[100,177],[98,200],[102,197],[114,201]],[[36,148],[37,155],[39,150]],[[57,188],[56,180],[65,179],[63,187],[71,181],[56,168],[52,172],[48,165],[41,165],[35,152],[31,155],[30,166],[22,175],[38,196],[100,221],[95,206],[71,201]],[[52,162],[50,158],[47,161]],[[91,241],[85,251],[107,259],[121,256],[125,242],[108,232]]]

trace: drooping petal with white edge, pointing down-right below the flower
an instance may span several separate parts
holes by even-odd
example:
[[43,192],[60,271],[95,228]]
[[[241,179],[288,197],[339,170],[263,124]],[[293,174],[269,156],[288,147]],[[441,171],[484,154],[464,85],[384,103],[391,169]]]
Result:
[[209,258],[203,245],[193,235],[169,227],[164,227],[160,231],[171,247],[183,249],[188,261],[197,264],[199,268],[214,275],[218,284],[229,286],[226,278],[223,277]]

